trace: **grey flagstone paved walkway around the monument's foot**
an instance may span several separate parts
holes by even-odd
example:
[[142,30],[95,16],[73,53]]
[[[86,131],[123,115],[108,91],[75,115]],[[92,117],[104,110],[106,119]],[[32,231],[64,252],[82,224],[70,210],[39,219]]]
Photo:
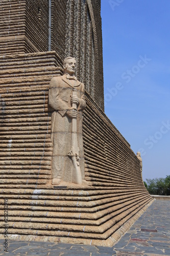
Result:
[[170,200],[156,200],[113,247],[9,241],[0,255],[170,256]]

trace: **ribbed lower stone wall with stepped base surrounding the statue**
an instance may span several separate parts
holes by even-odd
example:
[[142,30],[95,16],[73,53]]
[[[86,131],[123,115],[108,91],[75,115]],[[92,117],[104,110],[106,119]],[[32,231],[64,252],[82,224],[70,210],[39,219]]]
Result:
[[[8,199],[9,239],[111,246],[121,234],[116,230],[152,202],[129,143],[86,92],[83,140],[91,186],[55,188],[48,87],[62,74],[61,60],[42,52],[1,55],[1,63],[0,212]],[[0,225],[3,238],[3,218]]]

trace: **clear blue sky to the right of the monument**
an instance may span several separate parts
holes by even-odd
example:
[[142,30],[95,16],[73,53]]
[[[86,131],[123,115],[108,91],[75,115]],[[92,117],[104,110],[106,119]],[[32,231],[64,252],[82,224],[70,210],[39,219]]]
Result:
[[169,10],[169,0],[102,0],[105,113],[140,149],[143,180],[170,175]]

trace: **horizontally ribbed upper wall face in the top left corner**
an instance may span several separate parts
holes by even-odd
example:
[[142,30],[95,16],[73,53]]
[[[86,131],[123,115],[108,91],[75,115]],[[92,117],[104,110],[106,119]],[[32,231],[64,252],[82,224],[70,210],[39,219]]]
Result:
[[0,54],[25,52],[26,0],[0,2]]

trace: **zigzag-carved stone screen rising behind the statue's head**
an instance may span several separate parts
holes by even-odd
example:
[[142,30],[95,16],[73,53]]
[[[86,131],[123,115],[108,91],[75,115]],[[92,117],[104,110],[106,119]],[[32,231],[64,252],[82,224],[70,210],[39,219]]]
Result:
[[67,1],[66,51],[77,60],[77,77],[94,98],[94,40],[86,0]]

